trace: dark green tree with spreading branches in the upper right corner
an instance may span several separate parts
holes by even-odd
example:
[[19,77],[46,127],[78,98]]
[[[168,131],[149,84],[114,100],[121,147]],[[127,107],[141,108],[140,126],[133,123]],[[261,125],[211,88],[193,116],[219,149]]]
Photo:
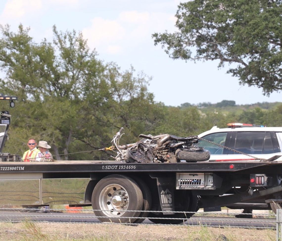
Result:
[[235,63],[228,73],[269,95],[282,89],[281,12],[281,0],[189,1],[178,6],[178,31],[153,38],[173,59]]

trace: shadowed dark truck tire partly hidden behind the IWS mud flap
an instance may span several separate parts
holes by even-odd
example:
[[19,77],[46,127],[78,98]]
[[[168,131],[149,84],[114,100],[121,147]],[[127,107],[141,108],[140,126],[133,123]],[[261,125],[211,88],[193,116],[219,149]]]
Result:
[[[196,212],[198,211],[198,198],[187,190],[175,190],[174,205],[175,211]],[[194,213],[175,213],[172,215],[163,213],[150,213],[149,220],[155,224],[180,224],[184,223],[187,218],[190,218]],[[153,218],[168,218],[168,219],[153,219]],[[182,219],[170,219],[182,218]]]

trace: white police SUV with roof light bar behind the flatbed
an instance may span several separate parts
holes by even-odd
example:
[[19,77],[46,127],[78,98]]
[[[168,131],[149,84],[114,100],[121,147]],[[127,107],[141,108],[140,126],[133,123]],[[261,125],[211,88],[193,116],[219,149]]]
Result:
[[280,156],[276,160],[282,160],[282,127],[243,123],[227,125],[228,128],[214,126],[198,135],[204,139],[199,140],[199,146],[210,151],[209,161],[271,160],[275,156]]

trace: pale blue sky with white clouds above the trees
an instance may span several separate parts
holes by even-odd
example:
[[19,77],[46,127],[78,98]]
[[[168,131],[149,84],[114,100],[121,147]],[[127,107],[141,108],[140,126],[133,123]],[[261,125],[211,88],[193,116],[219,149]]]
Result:
[[30,35],[40,43],[52,41],[52,26],[58,31],[81,32],[88,45],[105,63],[115,62],[122,71],[131,66],[136,75],[152,77],[148,91],[156,102],[167,106],[183,103],[236,104],[281,102],[281,92],[264,96],[262,89],[239,85],[227,74],[228,64],[217,68],[217,61],[173,60],[152,34],[174,32],[179,0],[1,0],[0,24],[16,31],[19,24],[30,27]]

